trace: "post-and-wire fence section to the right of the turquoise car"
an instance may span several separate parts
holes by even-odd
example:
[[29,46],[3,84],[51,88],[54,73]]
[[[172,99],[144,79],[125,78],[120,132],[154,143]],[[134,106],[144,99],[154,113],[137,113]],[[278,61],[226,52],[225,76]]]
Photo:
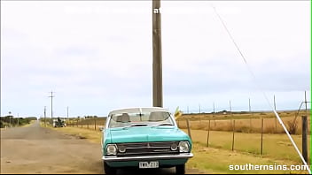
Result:
[[[302,118],[306,118],[307,121],[306,134],[302,133]],[[292,119],[283,118],[284,121],[292,121]],[[292,134],[292,139],[300,148],[308,152],[306,154],[308,157],[310,137],[305,135],[310,133],[310,119],[303,116],[298,118],[297,122],[297,133]],[[177,120],[178,127],[188,133],[193,142],[207,148],[224,148],[300,162],[300,157],[292,147],[291,141],[287,139],[282,126],[278,124],[276,128],[274,123],[274,118],[253,118],[251,126],[249,119],[191,120],[183,118]],[[305,141],[303,138],[306,138]]]

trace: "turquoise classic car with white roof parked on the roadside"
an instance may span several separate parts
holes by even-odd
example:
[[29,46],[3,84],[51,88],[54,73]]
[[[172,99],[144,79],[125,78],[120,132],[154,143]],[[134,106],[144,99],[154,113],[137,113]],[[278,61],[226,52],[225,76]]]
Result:
[[193,156],[190,137],[167,109],[158,107],[111,111],[101,144],[107,174],[127,167],[175,167],[176,174],[184,174],[185,163]]

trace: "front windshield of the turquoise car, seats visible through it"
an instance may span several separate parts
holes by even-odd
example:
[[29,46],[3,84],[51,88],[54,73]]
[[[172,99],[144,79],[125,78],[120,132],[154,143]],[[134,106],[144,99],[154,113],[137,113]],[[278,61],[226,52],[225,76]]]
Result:
[[169,112],[165,111],[144,111],[132,113],[113,114],[109,128],[113,127],[134,127],[134,126],[174,126],[175,123]]

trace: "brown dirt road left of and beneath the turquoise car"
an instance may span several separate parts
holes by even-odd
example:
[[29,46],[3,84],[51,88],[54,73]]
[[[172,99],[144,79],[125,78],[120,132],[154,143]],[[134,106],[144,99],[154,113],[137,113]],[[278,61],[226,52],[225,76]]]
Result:
[[[104,173],[100,144],[40,127],[1,130],[1,173]],[[187,170],[188,173],[198,171]],[[175,169],[118,171],[119,174],[174,174]]]

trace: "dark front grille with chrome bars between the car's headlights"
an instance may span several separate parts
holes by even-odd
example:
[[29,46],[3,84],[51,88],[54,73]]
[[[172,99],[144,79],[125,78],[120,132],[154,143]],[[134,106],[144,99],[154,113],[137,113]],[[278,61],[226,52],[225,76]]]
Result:
[[150,154],[175,154],[179,150],[171,150],[170,147],[173,143],[178,144],[178,141],[160,141],[160,142],[139,142],[139,143],[119,143],[117,147],[124,147],[126,151],[117,153],[119,156],[126,155],[150,155]]

